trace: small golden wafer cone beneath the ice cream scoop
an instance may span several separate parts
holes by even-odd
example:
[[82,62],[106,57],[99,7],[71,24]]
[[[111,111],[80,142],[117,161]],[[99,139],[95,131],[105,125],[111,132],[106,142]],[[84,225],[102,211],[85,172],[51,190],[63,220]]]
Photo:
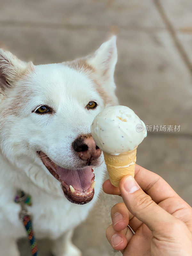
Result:
[[119,187],[119,181],[125,175],[134,176],[137,148],[119,155],[111,155],[103,152],[105,164],[111,184]]

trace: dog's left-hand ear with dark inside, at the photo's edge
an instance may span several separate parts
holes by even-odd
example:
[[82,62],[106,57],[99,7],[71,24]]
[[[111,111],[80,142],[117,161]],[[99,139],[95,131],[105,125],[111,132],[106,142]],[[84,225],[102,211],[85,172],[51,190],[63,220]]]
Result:
[[27,66],[26,62],[17,59],[11,52],[0,49],[0,93],[11,88]]

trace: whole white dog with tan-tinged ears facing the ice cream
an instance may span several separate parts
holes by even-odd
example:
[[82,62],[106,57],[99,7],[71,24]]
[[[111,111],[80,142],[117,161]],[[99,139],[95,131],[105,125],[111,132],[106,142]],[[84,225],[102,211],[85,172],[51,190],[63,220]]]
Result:
[[35,235],[53,240],[53,255],[81,255],[73,229],[92,208],[105,171],[90,125],[117,104],[116,60],[115,36],[94,54],[59,64],[34,66],[0,49],[1,256],[19,256],[17,239],[26,237],[18,189],[32,196]]

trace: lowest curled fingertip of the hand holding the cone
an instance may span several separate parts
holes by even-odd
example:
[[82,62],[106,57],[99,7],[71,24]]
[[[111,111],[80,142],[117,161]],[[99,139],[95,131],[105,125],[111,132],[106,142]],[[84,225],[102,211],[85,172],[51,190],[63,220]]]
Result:
[[123,250],[127,242],[132,238],[133,233],[129,228],[126,228],[122,231],[116,231],[111,224],[106,230],[106,237],[113,247],[113,249],[120,251]]

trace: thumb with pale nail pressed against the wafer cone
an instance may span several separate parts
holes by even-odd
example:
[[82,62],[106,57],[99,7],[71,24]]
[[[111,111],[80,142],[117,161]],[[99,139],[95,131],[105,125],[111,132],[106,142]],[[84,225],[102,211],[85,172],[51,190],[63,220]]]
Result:
[[119,183],[121,196],[128,210],[151,231],[160,231],[174,217],[157,205],[137,184],[132,176],[125,176]]

